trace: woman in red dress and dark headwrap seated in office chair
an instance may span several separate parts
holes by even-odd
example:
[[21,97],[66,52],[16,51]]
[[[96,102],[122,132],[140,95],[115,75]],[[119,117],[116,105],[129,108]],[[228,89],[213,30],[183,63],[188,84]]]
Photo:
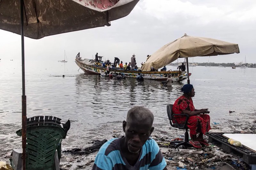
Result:
[[[188,118],[188,128],[190,130],[191,141],[189,143],[195,148],[201,148],[202,145],[208,146],[209,144],[203,138],[203,134],[208,132],[210,127],[210,116],[205,113],[210,113],[208,109],[195,109],[192,101],[192,97],[195,96],[195,89],[192,84],[185,84],[181,91],[183,95],[180,96],[173,104],[172,112],[174,114],[187,114]],[[184,124],[186,117],[185,116],[176,116],[178,124]],[[176,123],[173,121],[173,123]],[[198,136],[196,137],[196,135]]]

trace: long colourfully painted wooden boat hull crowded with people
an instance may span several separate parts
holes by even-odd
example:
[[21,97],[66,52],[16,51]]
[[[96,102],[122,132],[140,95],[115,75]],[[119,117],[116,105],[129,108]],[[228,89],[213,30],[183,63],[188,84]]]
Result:
[[[75,62],[78,67],[80,67],[84,72],[91,73],[91,74],[101,74],[104,75],[107,71],[106,67],[100,67],[95,65],[95,60],[92,59],[75,59]],[[187,72],[181,72],[181,71],[141,71],[141,70],[123,70],[120,68],[109,68],[109,71],[112,73],[123,73],[126,75],[126,77],[136,78],[138,73],[143,75],[144,79],[150,79],[150,80],[159,80],[159,81],[165,81],[168,77],[168,74],[172,75],[173,81],[182,81],[188,78]],[[182,74],[181,74],[182,73]]]

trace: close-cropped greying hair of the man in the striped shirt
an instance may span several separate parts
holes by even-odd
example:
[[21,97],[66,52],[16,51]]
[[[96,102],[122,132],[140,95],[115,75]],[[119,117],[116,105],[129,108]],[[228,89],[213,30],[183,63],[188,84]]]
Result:
[[152,126],[154,121],[154,115],[153,113],[142,106],[134,106],[132,109],[130,109],[127,113],[126,122],[132,123],[132,122],[143,122],[150,124]]

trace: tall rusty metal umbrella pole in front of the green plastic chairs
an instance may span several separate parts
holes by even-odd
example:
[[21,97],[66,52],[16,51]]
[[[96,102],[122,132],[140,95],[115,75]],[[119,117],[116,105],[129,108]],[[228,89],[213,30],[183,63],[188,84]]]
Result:
[[25,95],[25,55],[24,55],[24,0],[20,0],[20,35],[21,35],[21,65],[22,65],[22,169],[26,170],[26,146],[27,146],[27,100]]

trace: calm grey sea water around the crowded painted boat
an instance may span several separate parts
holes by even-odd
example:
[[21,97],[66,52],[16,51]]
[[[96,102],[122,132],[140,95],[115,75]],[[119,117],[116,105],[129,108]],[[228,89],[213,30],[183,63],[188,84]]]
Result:
[[[176,67],[167,66],[175,70]],[[121,129],[127,111],[146,106],[160,130],[169,128],[166,104],[173,103],[187,83],[162,87],[159,81],[110,80],[84,74],[74,61],[26,61],[28,117],[52,115],[71,120],[64,148],[84,147],[93,139],[109,139]],[[256,110],[256,69],[189,67],[196,108],[209,108],[211,120],[235,119],[228,111],[251,114]],[[65,75],[63,78],[62,75]],[[21,128],[21,62],[0,61],[0,154],[21,146],[15,132]],[[158,131],[160,131],[158,129]],[[156,130],[157,131],[157,130]]]

